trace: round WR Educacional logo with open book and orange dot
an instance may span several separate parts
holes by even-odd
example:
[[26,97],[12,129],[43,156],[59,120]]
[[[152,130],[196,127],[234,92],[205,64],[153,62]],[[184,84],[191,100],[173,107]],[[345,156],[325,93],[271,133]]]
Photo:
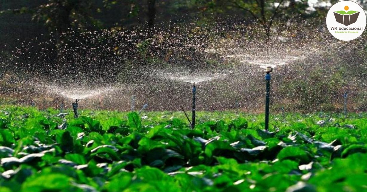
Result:
[[326,26],[338,40],[350,41],[363,33],[366,27],[366,13],[353,1],[339,1],[327,13]]

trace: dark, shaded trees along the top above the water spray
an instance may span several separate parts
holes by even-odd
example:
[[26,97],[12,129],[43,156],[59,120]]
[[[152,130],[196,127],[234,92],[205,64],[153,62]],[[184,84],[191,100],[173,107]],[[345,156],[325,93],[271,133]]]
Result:
[[276,23],[315,22],[326,10],[294,0],[0,0],[0,46],[5,55],[19,46],[19,41],[50,39],[50,32],[62,46],[60,34],[70,29],[152,29],[221,21],[255,22],[270,36]]

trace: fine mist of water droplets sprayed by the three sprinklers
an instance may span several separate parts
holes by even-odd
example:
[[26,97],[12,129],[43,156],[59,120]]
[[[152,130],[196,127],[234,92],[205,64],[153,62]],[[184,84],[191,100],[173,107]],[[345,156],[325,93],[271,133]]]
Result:
[[[95,108],[119,110],[129,110],[129,100],[136,96],[137,104],[149,103],[150,110],[179,110],[181,104],[189,106],[190,86],[195,82],[198,110],[231,109],[238,103],[243,110],[257,110],[262,106],[262,80],[268,66],[275,67],[273,81],[281,83],[306,77],[315,66],[326,69],[342,60],[365,65],[365,58],[340,57],[365,46],[362,40],[339,42],[322,31],[267,39],[251,30],[245,25],[172,26],[154,33],[70,30],[62,34],[69,38],[59,49],[55,39],[34,38],[22,42],[1,63],[8,69],[1,82],[14,82],[16,88],[8,86],[0,96],[19,97],[18,102],[25,104],[44,97],[44,105],[49,106],[82,99],[90,103],[85,103],[88,107],[98,103]],[[33,50],[34,45],[43,48]],[[277,97],[278,101],[289,98]]]

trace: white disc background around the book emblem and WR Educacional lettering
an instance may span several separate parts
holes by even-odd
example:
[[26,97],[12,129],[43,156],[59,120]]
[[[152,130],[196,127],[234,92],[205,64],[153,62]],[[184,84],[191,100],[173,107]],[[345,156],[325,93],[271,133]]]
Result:
[[[345,11],[344,7],[348,6],[348,11],[359,11],[358,19],[355,23],[345,26],[341,23],[338,23],[335,19],[334,12],[335,11]],[[348,12],[346,11],[346,12]],[[359,37],[364,29],[366,28],[366,13],[364,12],[363,8],[353,2],[353,1],[339,1],[335,3],[329,10],[326,15],[326,26],[329,32],[337,39],[342,41],[350,41],[357,37]],[[362,30],[331,30],[330,27],[362,27]],[[358,33],[348,33],[348,32],[358,32]],[[335,32],[346,32],[346,33],[335,33]]]

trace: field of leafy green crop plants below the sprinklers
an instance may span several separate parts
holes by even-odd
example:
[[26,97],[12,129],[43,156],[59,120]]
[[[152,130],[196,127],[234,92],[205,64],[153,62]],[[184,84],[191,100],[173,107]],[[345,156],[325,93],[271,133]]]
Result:
[[367,114],[0,107],[0,191],[367,191]]

